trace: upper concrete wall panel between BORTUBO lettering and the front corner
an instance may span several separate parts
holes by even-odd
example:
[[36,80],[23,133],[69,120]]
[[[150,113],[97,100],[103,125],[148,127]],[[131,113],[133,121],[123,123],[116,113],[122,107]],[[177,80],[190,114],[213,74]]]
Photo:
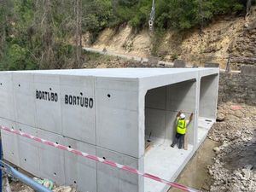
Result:
[[137,81],[96,79],[97,146],[139,157],[137,97]]

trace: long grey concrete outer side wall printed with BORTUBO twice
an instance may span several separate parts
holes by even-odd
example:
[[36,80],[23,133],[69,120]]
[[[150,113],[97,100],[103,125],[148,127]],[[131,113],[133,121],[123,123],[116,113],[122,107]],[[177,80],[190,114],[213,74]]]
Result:
[[[136,80],[40,73],[0,73],[0,79],[1,125],[143,171]],[[38,177],[80,191],[143,191],[134,174],[7,131],[2,138],[4,159]]]

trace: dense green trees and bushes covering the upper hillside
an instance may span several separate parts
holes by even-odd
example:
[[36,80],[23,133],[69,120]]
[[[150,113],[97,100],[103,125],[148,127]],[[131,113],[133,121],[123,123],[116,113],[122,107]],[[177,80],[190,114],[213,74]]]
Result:
[[[0,70],[80,67],[84,32],[148,27],[152,0],[0,0]],[[187,30],[214,15],[242,14],[247,0],[156,0],[155,29]],[[75,40],[73,40],[75,38]],[[75,41],[76,46],[73,44]]]

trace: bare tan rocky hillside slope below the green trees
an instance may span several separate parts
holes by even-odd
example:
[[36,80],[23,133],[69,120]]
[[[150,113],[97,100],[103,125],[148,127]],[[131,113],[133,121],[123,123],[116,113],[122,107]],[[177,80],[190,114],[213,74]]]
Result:
[[166,32],[161,38],[152,38],[147,30],[134,33],[130,26],[120,26],[105,29],[95,44],[84,46],[142,57],[154,53],[164,61],[179,58],[197,66],[216,61],[225,67],[230,56],[232,69],[239,69],[256,57],[256,7],[247,20],[234,15],[218,17],[202,32]]

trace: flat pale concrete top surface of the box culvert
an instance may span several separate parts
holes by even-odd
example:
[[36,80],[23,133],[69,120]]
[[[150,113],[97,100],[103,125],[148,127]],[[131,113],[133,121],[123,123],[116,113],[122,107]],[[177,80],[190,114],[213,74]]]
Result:
[[[64,69],[64,70],[37,70],[37,71],[15,71],[8,73],[38,73],[38,74],[59,74],[76,76],[93,76],[102,78],[124,78],[143,79],[159,77],[162,75],[178,75],[183,73],[218,73],[218,68],[102,68],[102,69]],[[7,73],[7,72],[0,72]]]

